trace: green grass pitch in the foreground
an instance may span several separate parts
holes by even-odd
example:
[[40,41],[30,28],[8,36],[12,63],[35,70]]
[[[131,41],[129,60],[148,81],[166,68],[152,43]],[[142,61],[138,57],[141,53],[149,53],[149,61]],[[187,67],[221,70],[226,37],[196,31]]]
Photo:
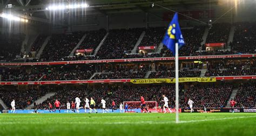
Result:
[[0,114],[0,135],[256,135],[255,113]]

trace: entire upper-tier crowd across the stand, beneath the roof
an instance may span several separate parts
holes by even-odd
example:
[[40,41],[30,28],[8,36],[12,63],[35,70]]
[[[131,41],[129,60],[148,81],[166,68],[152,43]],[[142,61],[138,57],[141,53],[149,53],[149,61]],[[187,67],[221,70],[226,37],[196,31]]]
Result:
[[[206,56],[206,55],[231,55],[256,53],[256,25],[254,22],[235,23],[234,38],[231,43],[228,37],[231,30],[231,24],[217,23],[213,24],[209,30],[206,43],[225,43],[230,45],[230,49],[207,50],[206,46],[201,45],[205,26],[194,26],[193,28],[182,29],[186,45],[179,50],[179,56]],[[136,52],[131,54],[131,50],[136,45],[140,35],[145,31],[145,35],[139,46],[159,46],[163,39],[166,28],[132,28],[132,29],[113,29],[100,47],[96,56],[88,56],[88,53],[82,56],[68,57],[80,39],[86,34],[85,39],[78,49],[96,49],[102,41],[107,31],[104,29],[86,32],[69,32],[62,34],[52,34],[48,44],[45,46],[40,60],[35,61],[70,61],[70,60],[88,60],[88,59],[118,59],[118,58],[146,58],[146,57],[172,57],[172,52],[165,46],[160,52],[153,51],[149,53]],[[31,51],[38,52],[42,47],[47,35],[39,35],[31,46]],[[0,60],[10,61],[21,56],[21,46],[25,35],[23,34],[2,34],[0,36]],[[6,46],[7,45],[7,46]],[[157,48],[156,48],[157,49]],[[93,53],[93,52],[92,52]],[[92,54],[91,54],[92,55]]]

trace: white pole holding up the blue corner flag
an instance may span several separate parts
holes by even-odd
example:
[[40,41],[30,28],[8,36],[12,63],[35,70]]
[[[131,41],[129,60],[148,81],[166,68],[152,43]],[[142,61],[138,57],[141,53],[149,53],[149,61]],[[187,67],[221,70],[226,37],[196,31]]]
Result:
[[179,46],[175,43],[175,107],[176,107],[176,123],[179,123]]

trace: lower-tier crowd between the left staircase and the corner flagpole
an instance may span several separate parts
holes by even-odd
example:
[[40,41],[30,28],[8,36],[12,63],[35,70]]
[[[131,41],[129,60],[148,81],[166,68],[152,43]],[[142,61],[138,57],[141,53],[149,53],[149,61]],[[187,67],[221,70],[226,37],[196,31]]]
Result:
[[[123,101],[140,101],[140,95],[144,96],[146,101],[160,101],[163,99],[161,95],[165,94],[170,97],[170,103],[174,105],[174,85],[150,85],[147,87],[142,86],[102,86],[96,90],[91,89],[59,89],[54,96],[45,100],[42,104],[38,104],[38,109],[48,109],[48,103],[53,104],[56,99],[62,104],[61,108],[66,108],[66,102],[75,101],[76,97],[79,97],[82,101],[81,106],[85,105],[85,98],[91,97],[96,101],[96,107],[102,108],[100,104],[101,99],[106,100],[106,107],[111,107],[112,101],[115,101],[116,108],[119,108],[119,104]],[[153,103],[152,106],[155,106]],[[140,105],[129,105],[130,108],[140,108]]]

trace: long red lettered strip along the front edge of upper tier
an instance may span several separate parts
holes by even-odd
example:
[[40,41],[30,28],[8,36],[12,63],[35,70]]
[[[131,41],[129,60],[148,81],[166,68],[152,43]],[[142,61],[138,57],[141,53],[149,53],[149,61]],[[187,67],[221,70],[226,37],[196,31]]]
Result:
[[[198,60],[198,59],[223,59],[223,58],[251,58],[251,55],[214,55],[214,56],[187,56],[179,57],[179,60]],[[23,66],[23,65],[64,65],[64,64],[93,64],[93,63],[120,63],[120,62],[151,62],[173,60],[174,57],[159,58],[131,58],[131,59],[101,59],[101,60],[78,60],[68,62],[35,62],[35,63],[0,63],[0,66]]]

